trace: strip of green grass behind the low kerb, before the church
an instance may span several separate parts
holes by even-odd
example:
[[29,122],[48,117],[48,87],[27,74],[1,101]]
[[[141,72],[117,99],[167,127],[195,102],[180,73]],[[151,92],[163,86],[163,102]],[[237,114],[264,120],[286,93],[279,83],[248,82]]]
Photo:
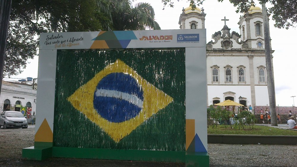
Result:
[[229,127],[225,128],[224,125],[218,125],[217,128],[211,126],[207,128],[208,134],[224,134],[224,135],[272,135],[272,136],[297,136],[297,131],[278,129],[274,127],[258,126],[254,125],[254,129],[246,128],[238,130],[238,127],[233,129]]

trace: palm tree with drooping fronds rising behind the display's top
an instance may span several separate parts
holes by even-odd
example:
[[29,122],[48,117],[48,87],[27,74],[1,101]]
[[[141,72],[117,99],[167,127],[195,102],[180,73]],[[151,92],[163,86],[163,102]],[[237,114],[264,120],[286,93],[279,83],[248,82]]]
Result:
[[110,27],[114,31],[160,29],[149,3],[141,2],[132,7],[131,0],[110,0],[110,15]]

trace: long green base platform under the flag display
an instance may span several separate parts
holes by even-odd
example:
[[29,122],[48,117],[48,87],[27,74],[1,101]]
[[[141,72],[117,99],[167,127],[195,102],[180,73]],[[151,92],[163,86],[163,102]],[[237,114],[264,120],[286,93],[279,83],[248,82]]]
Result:
[[209,166],[209,156],[207,152],[96,149],[51,146],[32,146],[23,149],[23,159],[45,160],[49,157],[181,162],[186,163],[187,167]]

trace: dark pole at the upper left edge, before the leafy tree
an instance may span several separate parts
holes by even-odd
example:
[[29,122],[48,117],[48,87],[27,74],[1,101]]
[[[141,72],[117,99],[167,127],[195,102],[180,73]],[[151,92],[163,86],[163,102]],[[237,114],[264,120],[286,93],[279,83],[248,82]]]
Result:
[[0,1],[0,94],[3,78],[3,68],[5,60],[5,48],[6,48],[6,39],[7,31],[10,17],[10,7],[12,0],[1,0]]

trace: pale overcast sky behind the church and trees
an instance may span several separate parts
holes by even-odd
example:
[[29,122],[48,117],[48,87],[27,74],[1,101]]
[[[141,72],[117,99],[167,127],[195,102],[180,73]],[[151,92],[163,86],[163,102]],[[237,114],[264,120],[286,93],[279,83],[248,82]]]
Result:
[[[165,7],[163,9],[163,4],[161,0],[136,0],[134,3],[139,2],[149,2],[155,11],[155,20],[159,23],[161,29],[179,29],[179,16],[181,10],[189,6],[187,0],[172,0],[174,2],[174,8]],[[260,4],[255,1],[255,5],[261,7]],[[226,22],[227,26],[231,29],[230,32],[236,31],[239,32],[239,21],[240,13],[236,13],[236,7],[233,7],[228,0],[224,2],[217,2],[217,0],[206,0],[203,5],[200,5],[199,8],[203,7],[205,17],[205,28],[206,28],[206,41],[209,42],[211,35],[217,31],[220,31],[224,26],[224,16],[229,21]],[[270,7],[269,4],[266,7]],[[262,7],[261,7],[262,8]],[[297,68],[297,54],[295,42],[291,40],[296,40],[296,29],[290,28],[286,29],[277,29],[274,28],[274,21],[270,16],[270,36],[271,36],[271,46],[273,53],[273,66],[274,66],[274,79],[275,79],[275,91],[276,91],[276,104],[279,106],[292,106],[293,98],[291,96],[297,96],[297,78],[296,72]],[[294,48],[294,49],[293,49]],[[29,60],[27,68],[24,69],[23,73],[17,76],[11,76],[11,78],[26,78],[32,77],[37,78],[37,69],[38,69],[38,57],[35,57],[33,60]],[[12,80],[12,79],[10,79]],[[297,105],[297,98],[295,106]]]

